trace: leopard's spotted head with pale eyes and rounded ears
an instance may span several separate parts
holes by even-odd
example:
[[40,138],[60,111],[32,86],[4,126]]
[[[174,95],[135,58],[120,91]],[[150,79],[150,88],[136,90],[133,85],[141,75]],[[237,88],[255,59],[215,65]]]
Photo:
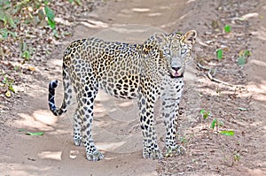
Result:
[[192,45],[195,43],[197,32],[190,30],[179,34],[154,34],[159,44],[162,57],[167,61],[168,73],[172,78],[184,76],[185,64],[192,61]]

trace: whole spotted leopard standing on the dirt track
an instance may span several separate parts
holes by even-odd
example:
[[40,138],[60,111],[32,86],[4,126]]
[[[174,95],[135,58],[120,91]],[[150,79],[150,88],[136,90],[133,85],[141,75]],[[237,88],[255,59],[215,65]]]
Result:
[[143,157],[161,159],[155,131],[154,104],[160,99],[165,125],[165,148],[180,149],[176,142],[177,113],[184,90],[185,65],[193,60],[195,30],[185,34],[154,33],[145,42],[109,42],[97,37],[69,44],[64,52],[62,77],[64,98],[55,104],[58,80],[49,83],[50,111],[59,116],[66,112],[75,93],[74,145],[84,146],[89,161],[104,158],[91,134],[93,108],[98,89],[117,98],[137,99],[143,135]]

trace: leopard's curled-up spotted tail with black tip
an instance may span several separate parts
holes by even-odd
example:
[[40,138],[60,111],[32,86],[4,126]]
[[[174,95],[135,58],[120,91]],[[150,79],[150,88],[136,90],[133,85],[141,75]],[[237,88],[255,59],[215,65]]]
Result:
[[64,86],[64,99],[61,107],[58,109],[55,105],[55,88],[58,87],[58,80],[51,80],[49,84],[49,95],[48,95],[48,102],[49,102],[49,107],[50,111],[55,115],[59,116],[62,113],[66,112],[67,106],[71,103],[72,99],[72,91],[73,87],[71,85],[71,80],[69,79],[68,73],[66,71],[63,71],[63,86]]

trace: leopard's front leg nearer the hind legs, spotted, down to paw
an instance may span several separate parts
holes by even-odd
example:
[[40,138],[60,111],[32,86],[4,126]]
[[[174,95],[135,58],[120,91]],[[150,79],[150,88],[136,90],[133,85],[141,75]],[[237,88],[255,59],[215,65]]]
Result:
[[140,92],[138,96],[139,117],[143,134],[143,157],[160,159],[162,154],[157,144],[157,134],[155,131],[155,119],[153,117],[154,99],[145,96]]

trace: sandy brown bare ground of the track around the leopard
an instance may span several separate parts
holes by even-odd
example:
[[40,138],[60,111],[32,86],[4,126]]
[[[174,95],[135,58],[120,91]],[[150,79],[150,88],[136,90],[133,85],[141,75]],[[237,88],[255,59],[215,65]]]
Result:
[[[223,32],[226,24],[232,27],[230,34]],[[190,65],[177,126],[177,140],[187,152],[160,161],[142,158],[136,101],[117,100],[100,92],[93,134],[105,159],[87,161],[85,150],[74,146],[72,138],[76,103],[61,117],[48,110],[48,83],[54,79],[61,82],[66,45],[91,35],[143,42],[154,32],[184,33],[189,29],[199,34],[195,63],[216,69],[216,79],[245,88],[211,81],[206,70]],[[264,0],[111,0],[85,12],[74,25],[74,35],[59,43],[42,66],[36,66],[17,103],[1,110],[0,175],[266,175],[265,42]],[[216,58],[217,49],[224,50],[221,61]],[[240,50],[252,52],[244,66],[237,63]],[[63,89],[57,90],[59,106]],[[203,109],[211,112],[208,119],[201,117]],[[163,149],[159,105],[156,119]],[[219,130],[233,130],[235,135],[217,134],[216,128],[210,128],[213,119],[223,122]],[[44,134],[30,136],[19,129]]]

